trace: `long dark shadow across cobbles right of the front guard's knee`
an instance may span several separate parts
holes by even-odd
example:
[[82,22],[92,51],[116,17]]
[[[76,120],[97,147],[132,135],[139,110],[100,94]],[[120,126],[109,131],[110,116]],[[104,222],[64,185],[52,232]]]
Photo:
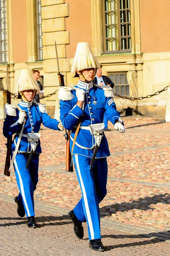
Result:
[[[170,204],[170,194],[165,193],[161,195],[154,195],[153,197],[146,196],[144,198],[138,198],[137,200],[131,200],[129,203],[121,203],[121,204],[112,204],[108,205],[109,207],[112,207],[112,209],[115,209],[115,212],[117,211],[128,211],[131,209],[141,209],[141,210],[148,210],[148,209],[155,209],[153,207],[150,207],[150,204]],[[105,206],[105,207],[108,207]],[[105,209],[105,207],[101,208],[101,212],[103,211],[109,211],[109,209]]]

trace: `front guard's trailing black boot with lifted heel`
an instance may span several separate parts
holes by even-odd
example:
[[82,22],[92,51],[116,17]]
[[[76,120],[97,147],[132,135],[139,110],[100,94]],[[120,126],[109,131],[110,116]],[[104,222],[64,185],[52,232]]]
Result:
[[82,239],[84,237],[84,229],[82,226],[82,222],[78,220],[78,218],[75,216],[73,210],[68,212],[68,217],[73,223],[75,235],[79,239]]

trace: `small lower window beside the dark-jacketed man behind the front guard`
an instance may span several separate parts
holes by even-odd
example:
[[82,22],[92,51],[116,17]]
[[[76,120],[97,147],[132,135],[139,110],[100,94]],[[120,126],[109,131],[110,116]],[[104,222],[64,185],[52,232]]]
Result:
[[113,87],[113,93],[117,93],[121,96],[129,96],[130,88],[127,81],[127,73],[118,72],[118,73],[109,73],[109,77],[112,82],[115,84]]

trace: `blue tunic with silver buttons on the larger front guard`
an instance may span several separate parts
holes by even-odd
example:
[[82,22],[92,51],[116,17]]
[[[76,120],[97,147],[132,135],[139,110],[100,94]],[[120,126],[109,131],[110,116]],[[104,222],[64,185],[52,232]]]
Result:
[[[74,140],[76,128],[80,118],[82,126],[89,126],[90,124],[102,123],[104,120],[104,113],[107,114],[108,119],[114,125],[120,118],[120,113],[116,111],[115,102],[112,97],[106,97],[104,90],[101,87],[94,86],[91,83],[87,84],[78,81],[76,88],[81,88],[86,91],[84,101],[84,111],[76,105],[78,99],[75,90],[71,90],[74,96],[71,100],[60,100],[60,119],[63,126],[71,131],[70,148]],[[89,130],[80,129],[76,138],[73,154],[82,154],[84,156],[92,157],[93,150],[90,149],[95,145],[94,136],[90,134]],[[108,157],[110,155],[107,139],[104,137],[98,148],[96,158]]]

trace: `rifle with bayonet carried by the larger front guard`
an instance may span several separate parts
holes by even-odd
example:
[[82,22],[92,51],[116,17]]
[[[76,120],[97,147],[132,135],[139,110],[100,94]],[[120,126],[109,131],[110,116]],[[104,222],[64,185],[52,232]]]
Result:
[[[59,84],[60,86],[64,85],[64,75],[60,73],[60,67],[58,62],[58,52],[57,52],[57,45],[55,42],[55,52],[56,52],[56,58],[57,58],[57,65],[58,65],[58,78],[59,78]],[[73,166],[72,166],[72,155],[70,151],[70,131],[65,129],[65,134],[63,135],[66,139],[66,172],[73,172]]]

